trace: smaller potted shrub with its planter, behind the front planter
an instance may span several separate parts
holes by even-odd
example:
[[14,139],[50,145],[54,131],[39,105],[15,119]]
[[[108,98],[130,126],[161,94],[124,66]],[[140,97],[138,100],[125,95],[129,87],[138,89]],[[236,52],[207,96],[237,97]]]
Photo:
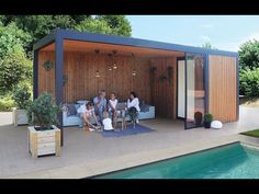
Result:
[[29,92],[27,85],[19,85],[13,93],[12,99],[14,100],[16,107],[12,111],[13,124],[26,125],[29,123],[26,106],[31,104],[31,93]]

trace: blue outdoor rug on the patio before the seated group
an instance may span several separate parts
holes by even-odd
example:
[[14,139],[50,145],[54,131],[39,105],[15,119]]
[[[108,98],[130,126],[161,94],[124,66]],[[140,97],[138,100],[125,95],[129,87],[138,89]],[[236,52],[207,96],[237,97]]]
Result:
[[133,125],[128,125],[127,128],[123,130],[116,129],[114,132],[101,132],[101,134],[103,137],[123,137],[123,136],[137,135],[137,134],[150,133],[150,132],[156,132],[156,130],[149,127],[136,124],[135,128],[133,128]]

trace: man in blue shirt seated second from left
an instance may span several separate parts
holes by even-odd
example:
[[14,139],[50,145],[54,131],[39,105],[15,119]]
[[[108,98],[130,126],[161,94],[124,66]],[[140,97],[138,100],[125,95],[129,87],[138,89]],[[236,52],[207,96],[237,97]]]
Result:
[[102,124],[103,112],[106,112],[106,92],[101,90],[99,95],[93,99],[95,114],[98,115],[99,122]]

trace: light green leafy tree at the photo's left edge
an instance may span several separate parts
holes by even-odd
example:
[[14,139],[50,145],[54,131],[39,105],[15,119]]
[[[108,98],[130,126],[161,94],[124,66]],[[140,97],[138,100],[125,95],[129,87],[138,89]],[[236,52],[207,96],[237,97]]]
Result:
[[20,81],[32,78],[32,64],[23,49],[25,36],[14,23],[0,26],[0,93],[8,92]]

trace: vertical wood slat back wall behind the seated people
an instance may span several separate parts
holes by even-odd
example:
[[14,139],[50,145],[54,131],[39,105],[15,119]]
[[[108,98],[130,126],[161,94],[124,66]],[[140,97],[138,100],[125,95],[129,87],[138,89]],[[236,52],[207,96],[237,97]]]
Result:
[[[44,91],[55,93],[55,67],[48,72],[43,64],[52,60],[55,54],[41,52],[38,56],[38,94]],[[147,58],[117,56],[116,70],[109,70],[113,60],[108,55],[65,53],[64,75],[68,82],[64,87],[64,101],[71,103],[78,100],[92,100],[99,90],[115,92],[119,101],[126,101],[131,91],[135,91],[140,100],[150,103],[150,61]],[[135,68],[136,76],[132,71]],[[97,78],[97,70],[100,78]],[[48,79],[49,78],[49,79]],[[47,84],[46,84],[47,83]],[[109,98],[109,96],[108,96]]]

